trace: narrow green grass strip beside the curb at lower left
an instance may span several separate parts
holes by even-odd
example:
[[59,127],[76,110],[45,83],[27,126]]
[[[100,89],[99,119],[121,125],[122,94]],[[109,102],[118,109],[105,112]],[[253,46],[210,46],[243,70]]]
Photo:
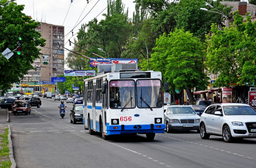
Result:
[[0,139],[0,168],[10,168],[12,163],[9,158],[8,128],[4,134],[0,134]]

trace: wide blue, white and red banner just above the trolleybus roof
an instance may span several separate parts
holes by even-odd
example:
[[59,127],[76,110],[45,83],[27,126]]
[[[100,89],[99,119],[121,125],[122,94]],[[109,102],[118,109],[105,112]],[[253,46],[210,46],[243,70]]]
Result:
[[[93,60],[91,60],[93,59]],[[103,64],[110,64],[109,61],[103,59],[103,58],[91,58],[90,59],[90,67],[97,67],[98,62],[103,63]],[[113,61],[113,63],[138,63],[138,58],[107,58],[110,61]],[[96,62],[96,61],[98,62]]]

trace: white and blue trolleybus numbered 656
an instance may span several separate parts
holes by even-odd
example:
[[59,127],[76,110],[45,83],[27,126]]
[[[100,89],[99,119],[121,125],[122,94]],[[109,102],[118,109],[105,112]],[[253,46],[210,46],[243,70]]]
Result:
[[[106,66],[121,70],[106,72]],[[84,80],[83,123],[89,134],[99,132],[107,139],[138,133],[153,140],[155,133],[165,132],[161,72],[124,70],[129,68],[128,64],[98,65],[102,72]]]

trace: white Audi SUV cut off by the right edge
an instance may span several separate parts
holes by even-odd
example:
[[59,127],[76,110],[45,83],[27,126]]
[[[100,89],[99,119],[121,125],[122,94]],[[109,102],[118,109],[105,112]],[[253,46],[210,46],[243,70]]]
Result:
[[208,106],[200,119],[200,136],[222,136],[225,142],[233,138],[256,138],[256,111],[247,104],[224,103]]

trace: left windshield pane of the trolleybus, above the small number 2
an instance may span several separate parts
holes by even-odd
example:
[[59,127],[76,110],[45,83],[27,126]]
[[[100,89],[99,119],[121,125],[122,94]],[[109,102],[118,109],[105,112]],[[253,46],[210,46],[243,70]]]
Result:
[[134,80],[110,81],[110,108],[135,108]]

